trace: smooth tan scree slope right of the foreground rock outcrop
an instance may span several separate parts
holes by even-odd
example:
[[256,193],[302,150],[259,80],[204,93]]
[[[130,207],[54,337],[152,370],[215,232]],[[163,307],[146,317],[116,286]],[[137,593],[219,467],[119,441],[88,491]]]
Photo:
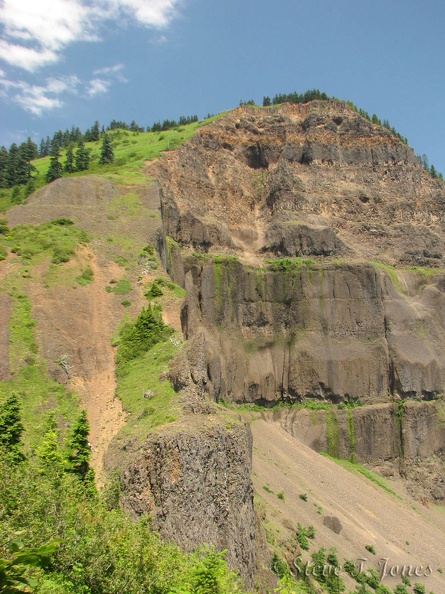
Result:
[[[445,592],[443,567],[445,514],[443,508],[426,508],[404,492],[401,483],[391,482],[397,496],[385,492],[365,477],[356,476],[335,462],[317,454],[275,423],[255,420],[253,432],[253,480],[260,509],[265,510],[268,538],[276,544],[288,541],[289,558],[297,555],[290,545],[297,523],[315,527],[310,552],[321,546],[335,547],[343,559],[367,558],[366,567],[381,574],[380,564],[388,558],[395,565],[430,565],[428,577],[413,576],[412,583],[425,584],[427,591]],[[264,489],[267,487],[271,492]],[[284,493],[284,501],[277,493]],[[307,494],[307,502],[299,494]],[[318,507],[317,507],[318,506]],[[321,508],[321,513],[318,513]],[[323,525],[326,516],[338,518],[340,534]],[[289,546],[290,545],[290,546]],[[373,545],[376,555],[365,549]],[[285,547],[286,548],[286,547]],[[384,584],[400,582],[386,577]]]

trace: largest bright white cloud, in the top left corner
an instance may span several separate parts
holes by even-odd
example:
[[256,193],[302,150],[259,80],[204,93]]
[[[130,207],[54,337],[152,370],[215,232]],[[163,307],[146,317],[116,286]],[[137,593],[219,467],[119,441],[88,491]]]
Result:
[[76,41],[98,40],[106,21],[129,17],[165,28],[182,0],[0,0],[0,59],[34,72]]

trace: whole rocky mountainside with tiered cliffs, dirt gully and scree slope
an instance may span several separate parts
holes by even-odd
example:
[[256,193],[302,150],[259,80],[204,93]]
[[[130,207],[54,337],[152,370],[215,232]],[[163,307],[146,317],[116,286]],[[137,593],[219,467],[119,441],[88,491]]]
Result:
[[[264,592],[314,547],[422,566],[411,581],[440,592],[443,181],[337,100],[241,106],[194,132],[143,183],[60,179],[8,210],[4,326],[20,292],[35,356],[88,411],[98,483],[118,473],[122,508],[185,550],[226,549]],[[49,242],[42,225],[65,219],[85,235],[59,224]],[[28,257],[17,225],[39,229]],[[130,356],[147,303],[159,334]],[[294,588],[341,591],[307,577]]]

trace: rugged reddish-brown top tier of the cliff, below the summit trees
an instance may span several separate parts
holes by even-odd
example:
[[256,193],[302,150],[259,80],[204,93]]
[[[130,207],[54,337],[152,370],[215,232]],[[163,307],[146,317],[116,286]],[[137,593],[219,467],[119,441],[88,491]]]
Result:
[[344,102],[241,107],[147,172],[183,248],[443,266],[443,183]]

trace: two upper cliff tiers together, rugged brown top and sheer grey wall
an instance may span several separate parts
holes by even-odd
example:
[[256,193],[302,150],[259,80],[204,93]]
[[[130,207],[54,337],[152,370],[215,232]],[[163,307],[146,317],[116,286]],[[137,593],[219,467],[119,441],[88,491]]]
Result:
[[445,189],[391,132],[339,101],[240,108],[149,172],[212,398],[442,394]]

